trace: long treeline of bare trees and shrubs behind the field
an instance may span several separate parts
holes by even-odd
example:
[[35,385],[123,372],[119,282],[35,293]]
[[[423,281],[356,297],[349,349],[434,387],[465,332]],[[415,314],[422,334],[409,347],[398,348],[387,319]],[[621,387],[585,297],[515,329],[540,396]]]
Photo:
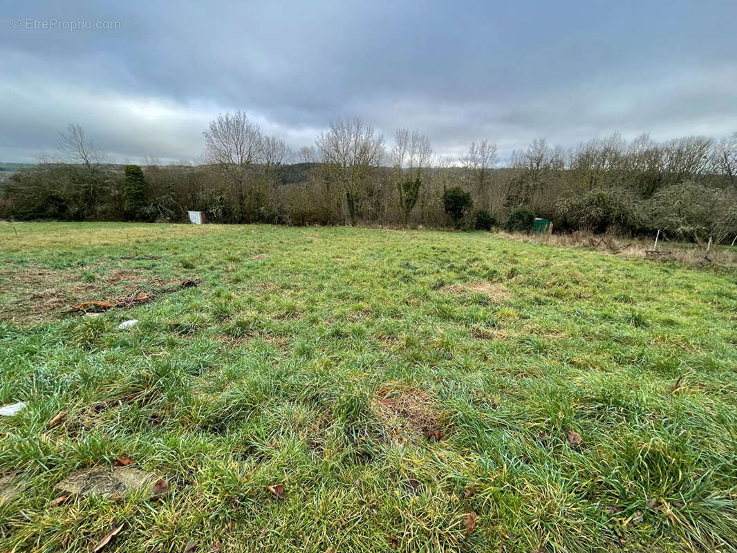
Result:
[[531,213],[556,232],[661,229],[716,243],[737,235],[737,133],[668,142],[615,134],[570,150],[537,139],[498,167],[492,142],[436,158],[422,133],[399,129],[386,145],[359,120],[292,152],[238,112],[211,123],[203,164],[144,165],[142,175],[106,164],[79,125],[63,136],[63,156],[4,183],[0,217],[182,222],[198,210],[217,223],[524,229],[520,213]]

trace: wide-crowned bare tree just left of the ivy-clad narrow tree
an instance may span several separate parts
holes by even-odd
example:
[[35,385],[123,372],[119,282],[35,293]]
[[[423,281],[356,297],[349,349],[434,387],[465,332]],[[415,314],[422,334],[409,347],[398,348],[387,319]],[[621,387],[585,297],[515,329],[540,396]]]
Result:
[[315,145],[324,164],[326,186],[336,183],[343,189],[351,224],[355,224],[368,179],[384,159],[384,137],[360,119],[338,119],[317,137]]

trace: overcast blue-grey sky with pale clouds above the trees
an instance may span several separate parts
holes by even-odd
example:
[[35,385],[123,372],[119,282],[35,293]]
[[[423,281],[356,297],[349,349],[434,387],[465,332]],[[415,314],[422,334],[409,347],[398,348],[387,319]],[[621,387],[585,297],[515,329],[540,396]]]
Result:
[[737,0],[5,1],[0,161],[69,122],[115,162],[196,162],[217,114],[298,148],[338,118],[391,142],[737,131]]

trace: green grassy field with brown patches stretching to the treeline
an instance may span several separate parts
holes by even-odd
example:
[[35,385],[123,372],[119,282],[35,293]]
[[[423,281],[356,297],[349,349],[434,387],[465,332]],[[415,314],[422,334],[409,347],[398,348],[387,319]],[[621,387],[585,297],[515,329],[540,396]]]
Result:
[[[488,233],[0,225],[0,405],[27,401],[0,551],[735,551],[736,278]],[[169,493],[54,504],[118,457]]]

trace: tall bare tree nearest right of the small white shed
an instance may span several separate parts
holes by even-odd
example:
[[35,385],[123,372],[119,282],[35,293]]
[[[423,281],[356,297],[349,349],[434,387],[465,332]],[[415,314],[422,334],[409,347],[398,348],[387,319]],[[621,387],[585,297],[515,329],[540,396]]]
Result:
[[245,195],[249,177],[254,165],[262,156],[261,129],[248,120],[242,111],[234,114],[220,114],[210,122],[205,135],[206,163],[220,168],[231,185],[237,198],[237,220],[243,222],[246,215]]

